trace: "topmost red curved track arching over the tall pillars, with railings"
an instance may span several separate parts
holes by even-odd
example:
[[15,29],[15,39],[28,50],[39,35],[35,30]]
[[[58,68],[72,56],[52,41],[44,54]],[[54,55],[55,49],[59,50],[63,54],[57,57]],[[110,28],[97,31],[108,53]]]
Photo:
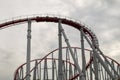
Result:
[[85,25],[81,24],[80,21],[75,21],[73,19],[69,19],[66,17],[60,17],[60,16],[57,17],[54,15],[44,15],[44,16],[35,15],[35,16],[23,17],[23,18],[16,17],[16,18],[13,18],[12,20],[7,20],[6,22],[0,23],[0,29],[7,28],[9,26],[13,26],[16,24],[25,23],[25,22],[28,22],[28,20],[35,21],[35,22],[55,22],[55,23],[58,23],[59,20],[61,20],[63,24],[72,26],[78,30],[80,30],[83,27],[84,33],[87,36],[89,36],[91,40],[95,41],[96,46],[99,45],[96,35],[90,29],[85,27]]

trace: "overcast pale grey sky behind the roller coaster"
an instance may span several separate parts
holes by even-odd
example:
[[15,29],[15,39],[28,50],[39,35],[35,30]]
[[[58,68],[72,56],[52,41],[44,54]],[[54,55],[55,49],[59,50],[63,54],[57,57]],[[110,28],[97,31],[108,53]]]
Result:
[[[104,54],[120,62],[120,0],[0,0],[0,22],[32,14],[57,14],[84,22],[97,35]],[[34,59],[57,47],[57,24],[32,26]],[[25,62],[26,30],[27,24],[21,24],[0,31],[0,80],[12,80],[16,68]],[[66,32],[72,45],[79,46],[79,32],[69,27]]]

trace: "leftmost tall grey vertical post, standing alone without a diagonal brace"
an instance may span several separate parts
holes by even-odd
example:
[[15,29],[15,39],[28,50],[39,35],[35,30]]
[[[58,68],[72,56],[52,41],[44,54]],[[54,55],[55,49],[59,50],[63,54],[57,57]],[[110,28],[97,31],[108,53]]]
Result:
[[26,57],[26,80],[30,80],[30,56],[31,56],[31,20],[28,19],[27,30],[27,57]]

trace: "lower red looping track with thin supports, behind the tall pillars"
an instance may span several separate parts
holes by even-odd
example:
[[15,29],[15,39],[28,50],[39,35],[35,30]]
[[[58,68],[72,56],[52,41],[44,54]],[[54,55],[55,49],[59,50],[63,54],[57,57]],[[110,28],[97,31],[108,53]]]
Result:
[[[72,61],[72,58],[69,56],[68,47],[63,47],[64,59],[63,59],[63,80],[79,80],[79,73],[76,70],[75,64]],[[78,63],[81,64],[81,60],[78,59],[78,55],[80,54],[81,48],[72,47],[74,50],[74,55],[76,55],[76,59]],[[33,65],[31,68],[31,79],[32,80],[57,80],[58,77],[58,54],[59,49],[55,49],[48,53],[42,59],[35,59],[31,61]],[[87,65],[86,65],[86,80],[95,80],[95,72],[94,72],[94,60],[93,57],[90,56],[91,50],[86,49],[86,56],[88,58]],[[106,58],[111,62],[111,65],[115,68],[115,70],[120,75],[120,64],[117,63],[114,59],[106,56]],[[25,80],[25,67],[26,63],[22,64],[18,69],[15,71],[14,80]],[[108,66],[108,68],[110,68]],[[98,68],[99,73],[99,80],[112,80],[110,76],[105,71],[104,67],[99,64]],[[114,71],[111,69],[113,75],[115,75]],[[116,76],[116,75],[115,75]],[[117,77],[117,76],[116,76]]]

